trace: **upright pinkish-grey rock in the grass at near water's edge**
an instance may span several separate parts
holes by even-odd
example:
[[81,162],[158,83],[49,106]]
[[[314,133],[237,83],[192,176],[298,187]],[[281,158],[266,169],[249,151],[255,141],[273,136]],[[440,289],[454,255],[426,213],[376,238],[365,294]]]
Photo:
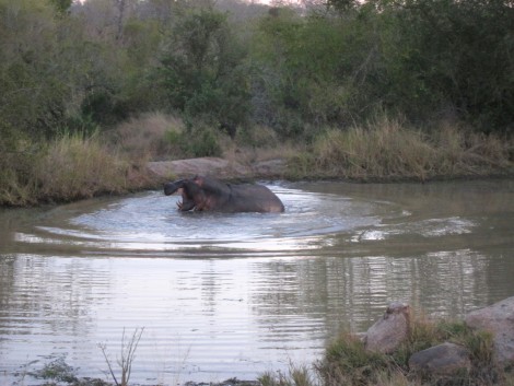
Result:
[[410,306],[394,302],[389,304],[384,316],[366,332],[366,350],[392,353],[407,338],[410,326]]

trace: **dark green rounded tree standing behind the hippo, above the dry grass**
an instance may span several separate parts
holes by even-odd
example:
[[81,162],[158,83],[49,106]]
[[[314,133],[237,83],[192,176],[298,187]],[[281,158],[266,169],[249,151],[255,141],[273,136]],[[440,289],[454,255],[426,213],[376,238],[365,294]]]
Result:
[[206,8],[187,11],[161,59],[160,77],[171,105],[186,120],[201,119],[233,137],[249,110],[244,59],[225,14]]

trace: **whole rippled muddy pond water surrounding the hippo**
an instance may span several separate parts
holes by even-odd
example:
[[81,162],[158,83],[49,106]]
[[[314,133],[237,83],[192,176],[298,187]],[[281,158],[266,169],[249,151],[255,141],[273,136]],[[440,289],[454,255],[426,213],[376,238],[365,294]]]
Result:
[[514,295],[514,182],[274,183],[281,214],[178,213],[150,191],[0,212],[0,385],[57,359],[131,382],[311,364],[390,301],[459,317]]

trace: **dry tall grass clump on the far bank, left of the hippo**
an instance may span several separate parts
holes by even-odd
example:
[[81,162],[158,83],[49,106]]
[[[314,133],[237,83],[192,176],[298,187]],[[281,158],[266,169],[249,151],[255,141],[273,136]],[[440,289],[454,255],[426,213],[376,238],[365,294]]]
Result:
[[113,150],[97,134],[62,134],[35,152],[3,160],[0,203],[71,201],[150,186],[143,162]]

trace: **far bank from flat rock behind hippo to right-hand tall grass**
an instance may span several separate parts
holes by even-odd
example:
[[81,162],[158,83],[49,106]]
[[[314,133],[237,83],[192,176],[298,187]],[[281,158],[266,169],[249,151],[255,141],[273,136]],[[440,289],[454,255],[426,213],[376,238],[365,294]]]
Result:
[[433,131],[386,116],[346,130],[326,129],[307,147],[227,149],[223,159],[149,163],[157,176],[210,174],[219,178],[428,182],[514,176],[514,142],[441,124]]

